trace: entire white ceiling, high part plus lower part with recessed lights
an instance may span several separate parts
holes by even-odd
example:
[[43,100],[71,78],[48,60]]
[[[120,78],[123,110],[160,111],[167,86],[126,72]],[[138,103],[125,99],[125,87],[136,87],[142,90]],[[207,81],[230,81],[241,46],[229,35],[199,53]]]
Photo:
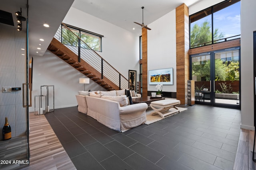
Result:
[[[70,6],[139,35],[141,27],[133,22],[142,23],[142,6],[144,24],[148,25],[183,3],[191,6],[200,1],[202,0],[29,0],[29,55],[44,55]],[[1,0],[0,10],[13,14],[16,27],[14,13],[22,8],[22,16],[26,16],[26,4],[27,0]],[[48,23],[50,27],[44,27],[44,23]],[[26,31],[24,21],[22,25],[22,31]]]

